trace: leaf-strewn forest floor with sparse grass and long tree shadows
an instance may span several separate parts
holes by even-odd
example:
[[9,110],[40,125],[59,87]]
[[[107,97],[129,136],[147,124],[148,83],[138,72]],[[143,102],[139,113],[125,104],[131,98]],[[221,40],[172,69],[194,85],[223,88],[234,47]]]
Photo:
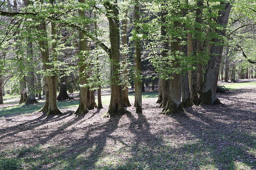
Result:
[[84,117],[73,115],[74,103],[49,117],[26,112],[37,105],[2,105],[0,169],[256,169],[256,80],[227,86],[231,93],[217,95],[223,104],[170,116],[152,91],[143,93],[142,114],[128,107],[110,118],[102,117],[108,103]]

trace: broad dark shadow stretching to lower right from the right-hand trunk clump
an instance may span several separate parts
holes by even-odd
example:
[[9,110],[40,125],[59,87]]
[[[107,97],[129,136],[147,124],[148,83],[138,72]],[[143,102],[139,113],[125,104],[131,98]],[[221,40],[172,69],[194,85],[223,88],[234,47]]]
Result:
[[[187,112],[196,119],[189,117],[186,113],[174,115],[173,118],[179,122],[180,126],[183,126],[184,130],[198,138],[204,149],[212,149],[210,157],[214,160],[215,166],[220,169],[235,169],[235,161],[252,168],[256,166],[255,156],[249,153],[247,148],[255,149],[255,136],[236,130],[238,128],[236,123],[222,123],[195,110],[187,110]],[[250,114],[255,113],[251,112]],[[199,120],[197,121],[197,119]],[[244,145],[245,142],[248,142],[249,145]]]

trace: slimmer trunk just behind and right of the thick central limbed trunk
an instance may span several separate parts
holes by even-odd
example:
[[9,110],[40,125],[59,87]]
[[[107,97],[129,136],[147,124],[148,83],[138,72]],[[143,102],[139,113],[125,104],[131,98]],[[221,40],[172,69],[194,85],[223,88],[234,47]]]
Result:
[[[123,48],[123,51],[126,51],[127,49],[127,13],[128,13],[128,9],[126,9],[124,11],[125,13],[125,16],[122,20],[122,48]],[[123,63],[123,78],[125,80],[128,80],[128,68],[126,66],[126,63],[128,61],[128,56],[127,56],[127,53],[125,52],[123,55],[122,55],[122,63]],[[129,98],[128,98],[128,87],[127,87],[127,84],[123,84],[123,103],[124,103],[124,107],[130,107],[132,106],[130,101],[129,101]]]

